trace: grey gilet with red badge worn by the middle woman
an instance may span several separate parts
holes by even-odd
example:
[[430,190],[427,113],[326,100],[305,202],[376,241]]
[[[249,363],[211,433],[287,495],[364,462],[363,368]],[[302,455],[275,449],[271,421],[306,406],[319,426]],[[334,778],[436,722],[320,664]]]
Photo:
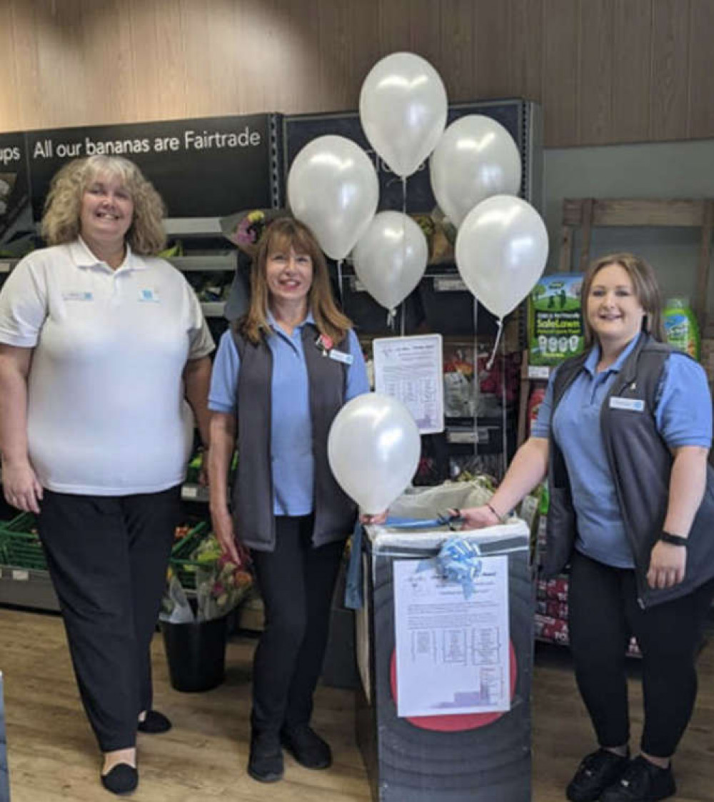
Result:
[[[241,359],[237,386],[238,469],[233,485],[233,518],[241,543],[258,551],[275,548],[273,475],[270,456],[270,411],[273,354],[232,330]],[[302,327],[302,346],[310,389],[312,453],[314,458],[313,545],[346,538],[355,525],[356,506],[337,484],[327,461],[327,435],[343,407],[347,366],[325,358],[315,346],[317,329]],[[337,344],[347,347],[347,338]]]

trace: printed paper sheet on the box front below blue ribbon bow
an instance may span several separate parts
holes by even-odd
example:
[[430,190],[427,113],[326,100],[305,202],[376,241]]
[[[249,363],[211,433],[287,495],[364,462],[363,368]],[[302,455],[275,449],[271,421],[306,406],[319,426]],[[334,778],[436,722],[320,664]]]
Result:
[[397,715],[510,708],[508,557],[483,557],[473,593],[432,561],[394,562]]

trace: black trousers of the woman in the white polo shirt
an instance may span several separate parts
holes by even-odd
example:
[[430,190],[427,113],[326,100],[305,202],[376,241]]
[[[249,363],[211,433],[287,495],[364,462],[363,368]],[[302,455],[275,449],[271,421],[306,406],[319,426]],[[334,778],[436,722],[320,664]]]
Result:
[[39,536],[99,748],[133,747],[152,704],[156,627],[181,487],[136,496],[45,490]]

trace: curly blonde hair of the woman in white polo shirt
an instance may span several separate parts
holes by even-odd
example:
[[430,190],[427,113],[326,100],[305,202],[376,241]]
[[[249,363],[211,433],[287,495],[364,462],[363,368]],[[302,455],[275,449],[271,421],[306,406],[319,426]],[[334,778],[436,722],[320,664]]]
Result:
[[134,253],[155,256],[166,247],[164,201],[132,161],[121,156],[87,156],[67,162],[55,174],[45,201],[42,234],[48,245],[74,241],[85,189],[101,176],[112,176],[132,196],[134,214],[126,241]]

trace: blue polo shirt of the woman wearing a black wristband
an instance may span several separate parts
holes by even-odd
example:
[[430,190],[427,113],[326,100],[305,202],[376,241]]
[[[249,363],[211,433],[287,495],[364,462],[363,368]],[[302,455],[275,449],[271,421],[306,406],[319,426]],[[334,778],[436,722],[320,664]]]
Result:
[[[566,461],[578,520],[575,548],[587,557],[617,568],[633,568],[635,563],[602,443],[600,408],[636,342],[637,338],[614,364],[600,373],[595,372],[600,359],[599,346],[595,346],[554,416],[551,376],[538,420],[531,430],[533,437],[547,438],[553,417],[553,435]],[[655,422],[669,448],[709,448],[712,444],[712,399],[704,369],[676,351],[664,363]]]

